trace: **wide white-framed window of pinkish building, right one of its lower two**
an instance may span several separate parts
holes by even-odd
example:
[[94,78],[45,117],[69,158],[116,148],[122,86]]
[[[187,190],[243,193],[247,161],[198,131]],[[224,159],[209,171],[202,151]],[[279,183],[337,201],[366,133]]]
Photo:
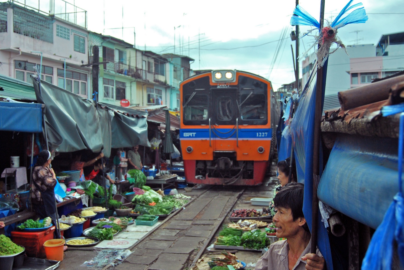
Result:
[[66,87],[64,69],[57,69],[57,86],[80,96],[87,96],[87,74],[66,70]]

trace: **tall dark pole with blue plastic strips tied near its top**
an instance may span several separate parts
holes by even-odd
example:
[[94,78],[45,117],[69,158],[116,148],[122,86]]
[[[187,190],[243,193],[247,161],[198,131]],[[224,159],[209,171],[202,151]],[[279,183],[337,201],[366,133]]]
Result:
[[[321,29],[323,28],[324,22],[324,6],[325,0],[321,0],[320,6],[320,35]],[[320,48],[320,44],[318,45]],[[321,59],[319,60],[321,61]],[[317,238],[318,238],[318,197],[317,197],[317,176],[320,175],[319,172],[319,154],[320,154],[320,122],[321,122],[321,115],[322,115],[322,88],[323,88],[323,67],[317,70],[317,84],[316,84],[316,110],[314,115],[314,146],[313,146],[313,199],[311,204],[311,247],[310,253],[316,253],[317,249]]]

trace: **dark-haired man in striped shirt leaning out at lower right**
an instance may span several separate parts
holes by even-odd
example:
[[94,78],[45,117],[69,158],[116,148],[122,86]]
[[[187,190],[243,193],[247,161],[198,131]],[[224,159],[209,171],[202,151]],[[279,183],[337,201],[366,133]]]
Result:
[[287,184],[274,198],[278,210],[273,218],[276,237],[286,238],[273,243],[258,260],[255,270],[323,270],[325,260],[317,249],[309,253],[311,234],[303,216],[301,183]]

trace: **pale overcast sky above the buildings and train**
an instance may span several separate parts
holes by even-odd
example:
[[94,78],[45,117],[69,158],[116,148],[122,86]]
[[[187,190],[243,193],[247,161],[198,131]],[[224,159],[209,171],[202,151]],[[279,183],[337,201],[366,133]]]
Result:
[[[347,2],[326,0],[325,18],[331,21]],[[376,44],[382,34],[404,31],[403,0],[362,3],[369,19],[339,29],[338,36],[345,45]],[[300,0],[299,4],[319,19],[320,0]],[[90,31],[133,44],[133,28],[125,28],[123,35],[122,29],[109,28],[135,27],[139,49],[146,46],[146,50],[156,53],[173,53],[175,35],[175,53],[195,59],[191,69],[249,71],[271,80],[275,90],[295,80],[290,48],[293,44],[295,50],[295,42],[289,36],[294,29],[289,21],[295,0],[85,0],[76,1],[76,5],[88,11]],[[301,31],[307,29],[301,27]],[[303,38],[301,52],[313,41],[313,37]]]

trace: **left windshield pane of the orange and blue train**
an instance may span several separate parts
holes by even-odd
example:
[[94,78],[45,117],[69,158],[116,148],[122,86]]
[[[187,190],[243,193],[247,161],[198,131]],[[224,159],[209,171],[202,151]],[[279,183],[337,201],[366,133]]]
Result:
[[187,102],[184,106],[184,120],[197,122],[208,119],[208,95],[189,94],[184,96],[184,100]]

